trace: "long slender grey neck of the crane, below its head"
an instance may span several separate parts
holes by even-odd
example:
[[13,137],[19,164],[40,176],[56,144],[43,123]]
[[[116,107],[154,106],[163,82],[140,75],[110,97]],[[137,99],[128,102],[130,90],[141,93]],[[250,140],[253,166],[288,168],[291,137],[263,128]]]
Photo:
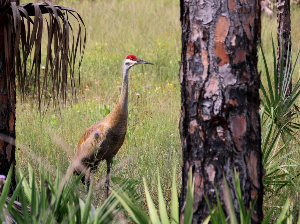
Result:
[[121,95],[119,98],[119,101],[116,105],[116,108],[121,113],[126,113],[128,111],[128,71],[129,67],[123,64],[122,66],[123,70],[123,82],[122,82],[122,89],[121,89]]

